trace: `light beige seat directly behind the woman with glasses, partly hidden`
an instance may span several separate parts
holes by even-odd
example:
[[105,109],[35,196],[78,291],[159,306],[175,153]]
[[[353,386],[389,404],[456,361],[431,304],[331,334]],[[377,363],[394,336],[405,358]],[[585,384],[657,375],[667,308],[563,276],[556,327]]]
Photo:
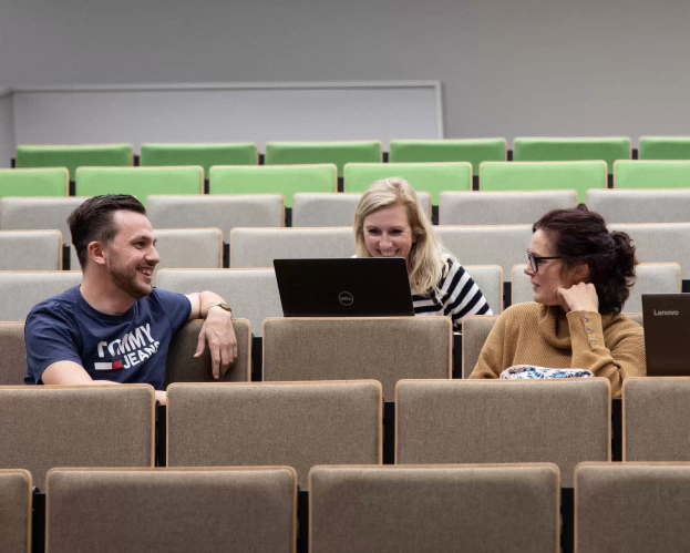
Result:
[[[513,267],[513,304],[532,301],[534,291],[526,265]],[[635,267],[635,285],[630,297],[622,306],[622,313],[640,313],[642,294],[678,294],[681,291],[680,265],[677,263],[640,263]]]

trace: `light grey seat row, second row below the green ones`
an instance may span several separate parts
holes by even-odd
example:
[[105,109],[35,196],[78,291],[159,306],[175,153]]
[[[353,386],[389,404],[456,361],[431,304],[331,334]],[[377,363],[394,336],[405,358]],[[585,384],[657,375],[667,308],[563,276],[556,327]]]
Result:
[[[677,263],[683,276],[690,275],[690,223],[611,224],[609,228],[630,235],[640,263]],[[436,234],[463,265],[498,265],[502,279],[509,283],[513,267],[526,260],[532,225],[443,225]],[[228,245],[224,245],[227,235],[218,228],[161,229],[156,236],[162,258],[157,272],[272,268],[277,258],[350,257],[356,252],[351,227],[235,227]],[[65,267],[62,245],[59,231],[0,231],[0,270],[60,270]],[[79,268],[74,249],[68,255],[69,268]],[[507,305],[509,294],[505,299]]]

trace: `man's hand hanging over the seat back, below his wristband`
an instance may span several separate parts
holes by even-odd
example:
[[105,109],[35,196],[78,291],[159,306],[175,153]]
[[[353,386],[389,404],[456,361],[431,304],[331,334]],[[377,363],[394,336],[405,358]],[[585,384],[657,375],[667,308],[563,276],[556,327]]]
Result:
[[204,354],[208,342],[212,369],[217,380],[224,377],[229,366],[237,359],[237,338],[233,328],[233,317],[220,307],[210,307],[199,332],[195,358]]

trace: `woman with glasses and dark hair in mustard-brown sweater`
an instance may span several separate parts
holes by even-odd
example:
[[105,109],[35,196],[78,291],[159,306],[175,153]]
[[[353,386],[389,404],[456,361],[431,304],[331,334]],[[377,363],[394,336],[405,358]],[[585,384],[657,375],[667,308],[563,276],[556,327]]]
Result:
[[635,283],[630,237],[610,233],[584,204],[547,213],[533,232],[525,274],[534,303],[501,315],[471,378],[521,366],[583,369],[608,378],[620,397],[625,378],[646,373],[642,328],[620,315]]

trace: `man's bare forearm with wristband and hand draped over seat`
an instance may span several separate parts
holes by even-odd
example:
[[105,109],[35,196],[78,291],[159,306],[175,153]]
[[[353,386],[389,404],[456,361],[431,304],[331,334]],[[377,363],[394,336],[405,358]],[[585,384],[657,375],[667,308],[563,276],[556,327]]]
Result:
[[206,319],[194,357],[204,354],[206,342],[210,351],[212,369],[215,379],[224,377],[229,366],[237,359],[237,338],[233,328],[233,316],[215,304],[225,303],[213,291],[199,291],[187,296],[192,304],[190,319]]

